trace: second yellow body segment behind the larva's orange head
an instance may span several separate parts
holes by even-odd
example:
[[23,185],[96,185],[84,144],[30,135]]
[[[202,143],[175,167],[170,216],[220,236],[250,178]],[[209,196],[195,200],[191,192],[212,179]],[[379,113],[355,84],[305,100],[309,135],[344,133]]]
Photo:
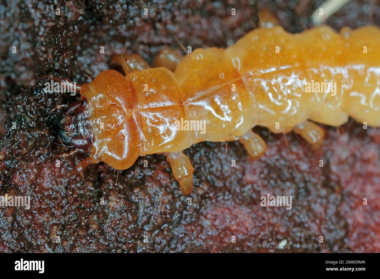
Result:
[[224,49],[196,49],[174,72],[188,120],[206,121],[195,141],[226,141],[255,125],[252,95]]

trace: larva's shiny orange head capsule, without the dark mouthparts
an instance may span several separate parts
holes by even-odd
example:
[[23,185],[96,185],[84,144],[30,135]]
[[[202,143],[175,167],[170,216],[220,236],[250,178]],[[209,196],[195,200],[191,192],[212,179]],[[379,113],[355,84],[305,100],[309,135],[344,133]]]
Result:
[[133,115],[136,91],[131,80],[116,71],[103,71],[82,86],[81,96],[86,100],[86,128],[92,134],[90,158],[112,167],[130,167],[138,158],[136,145],[140,141]]

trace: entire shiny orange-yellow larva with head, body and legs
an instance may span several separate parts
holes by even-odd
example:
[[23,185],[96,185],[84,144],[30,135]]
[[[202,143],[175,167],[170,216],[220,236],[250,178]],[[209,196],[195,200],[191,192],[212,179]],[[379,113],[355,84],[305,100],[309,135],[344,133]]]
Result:
[[[196,49],[174,73],[127,61],[126,76],[103,71],[81,87],[61,137],[76,148],[67,154],[91,153],[76,171],[100,161],[123,170],[138,156],[163,153],[183,194],[190,194],[193,168],[181,151],[197,142],[239,137],[259,157],[266,145],[251,131],[256,125],[294,130],[314,147],[324,135],[314,122],[339,126],[350,116],[380,126],[379,46],[374,26],[340,33],[320,26],[300,34],[276,26],[257,28],[227,49]],[[331,82],[334,92],[313,90]],[[205,121],[206,131],[178,130],[181,119]]]

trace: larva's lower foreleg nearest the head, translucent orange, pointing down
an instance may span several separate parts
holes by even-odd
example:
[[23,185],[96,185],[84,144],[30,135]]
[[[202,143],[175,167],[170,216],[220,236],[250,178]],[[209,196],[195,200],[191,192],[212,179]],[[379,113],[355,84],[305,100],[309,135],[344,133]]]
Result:
[[191,194],[194,168],[189,158],[182,151],[164,152],[163,155],[169,161],[173,175],[181,186],[182,194]]

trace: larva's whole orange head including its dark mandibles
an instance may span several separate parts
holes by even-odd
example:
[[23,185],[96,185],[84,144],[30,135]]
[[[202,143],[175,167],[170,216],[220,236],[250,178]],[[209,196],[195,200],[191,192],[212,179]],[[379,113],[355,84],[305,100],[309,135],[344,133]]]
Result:
[[[103,71],[80,91],[81,100],[65,117],[67,141],[88,148],[95,162],[127,169],[139,156],[139,136],[132,117],[135,90],[117,71]],[[71,136],[71,137],[70,137]]]

